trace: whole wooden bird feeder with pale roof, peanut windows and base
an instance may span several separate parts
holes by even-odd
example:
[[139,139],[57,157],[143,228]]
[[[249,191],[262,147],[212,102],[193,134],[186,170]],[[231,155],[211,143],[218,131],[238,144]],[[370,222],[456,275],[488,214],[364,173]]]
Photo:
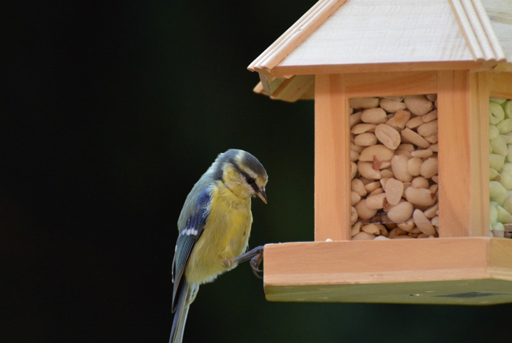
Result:
[[510,1],[320,0],[248,68],[314,100],[314,241],[265,246],[267,300],[512,302]]

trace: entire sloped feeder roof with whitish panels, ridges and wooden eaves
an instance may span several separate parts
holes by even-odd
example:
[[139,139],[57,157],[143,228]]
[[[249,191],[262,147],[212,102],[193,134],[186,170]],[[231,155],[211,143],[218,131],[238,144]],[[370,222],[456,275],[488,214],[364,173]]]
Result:
[[510,0],[319,0],[248,67],[288,101],[319,73],[480,68],[512,70]]

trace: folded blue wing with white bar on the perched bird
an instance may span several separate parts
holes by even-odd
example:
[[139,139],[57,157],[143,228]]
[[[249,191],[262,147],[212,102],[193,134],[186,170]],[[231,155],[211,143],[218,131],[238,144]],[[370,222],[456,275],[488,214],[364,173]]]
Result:
[[175,300],[178,289],[180,288],[180,280],[185,272],[185,267],[190,257],[190,253],[198,241],[203,229],[205,228],[206,219],[210,213],[210,204],[212,195],[210,187],[205,187],[198,196],[193,209],[187,218],[184,228],[180,228],[178,241],[176,242],[176,250],[173,260],[173,312],[175,311]]

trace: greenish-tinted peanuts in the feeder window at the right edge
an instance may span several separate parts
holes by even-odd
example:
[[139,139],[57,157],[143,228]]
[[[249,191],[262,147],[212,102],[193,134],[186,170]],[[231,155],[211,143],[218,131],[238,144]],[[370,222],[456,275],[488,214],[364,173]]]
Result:
[[512,238],[512,100],[489,102],[491,235]]

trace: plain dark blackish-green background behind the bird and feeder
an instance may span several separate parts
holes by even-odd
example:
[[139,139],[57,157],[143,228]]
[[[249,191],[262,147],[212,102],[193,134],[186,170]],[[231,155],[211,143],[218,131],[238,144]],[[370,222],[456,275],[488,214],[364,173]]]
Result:
[[[313,102],[247,65],[314,4],[18,1],[2,11],[0,341],[167,342],[176,221],[219,152],[270,182],[251,246],[313,239]],[[267,302],[242,265],[185,342],[510,342],[511,305]]]

